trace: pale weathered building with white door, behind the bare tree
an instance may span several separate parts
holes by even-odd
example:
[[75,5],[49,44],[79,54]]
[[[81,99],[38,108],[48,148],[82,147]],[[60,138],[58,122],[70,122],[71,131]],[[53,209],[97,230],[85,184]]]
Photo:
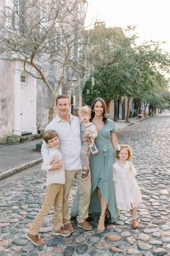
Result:
[[[16,8],[16,6],[13,8],[14,2],[18,2],[19,4],[17,10],[14,9]],[[16,24],[18,22],[17,19],[23,19],[23,24],[25,24],[24,22],[27,22],[27,17],[25,19],[25,16],[23,18],[22,15],[24,13],[23,9],[27,5],[27,2],[34,3],[33,0],[0,1],[0,21],[2,24],[0,33],[6,33],[6,31],[9,31],[11,33],[12,29],[14,29],[14,33],[17,33],[17,35],[19,33],[19,35],[21,35],[24,40],[24,27],[21,26],[21,20],[19,23],[19,27],[17,27]],[[40,2],[44,4],[47,3],[47,1],[37,0],[35,1],[35,4],[40,4]],[[50,0],[48,2],[50,2]],[[71,4],[71,1],[69,1],[69,4]],[[9,27],[9,30],[5,30],[6,26],[9,26],[10,20],[8,20],[7,16],[9,10],[11,9],[14,10],[14,25],[12,27]],[[39,13],[39,16],[42,13],[44,14],[45,12],[44,9],[40,10],[41,12]],[[79,15],[81,15],[83,20],[85,11],[86,1],[79,0]],[[6,19],[4,19],[3,13],[6,14]],[[32,20],[32,22],[34,21]],[[45,23],[45,25],[47,25],[47,23]],[[1,45],[3,46],[3,43]],[[6,50],[8,50],[8,48],[6,48]],[[77,51],[78,50],[79,48],[77,49]],[[0,57],[0,142],[5,142],[7,135],[23,135],[27,132],[35,135],[37,134],[38,129],[42,129],[42,127],[45,127],[46,124],[48,124],[48,111],[51,102],[51,95],[49,93],[50,91],[42,81],[40,82],[35,78],[37,77],[37,72],[35,71],[35,69],[32,72],[32,67],[30,66],[30,64],[26,64],[27,72],[24,72],[24,63],[23,61],[21,61],[21,58],[16,58],[16,53],[14,54],[14,52],[12,51],[6,51]],[[38,59],[38,61],[39,60],[40,59]],[[49,62],[50,60],[51,59],[49,59]],[[45,64],[47,64],[47,61],[45,61]],[[51,80],[55,81],[52,85],[55,89],[55,84],[60,78],[59,74],[61,74],[62,72],[62,65],[61,67],[59,67],[59,65],[56,64],[55,68],[53,69],[54,65],[52,64],[51,69],[50,64],[48,63],[48,65],[46,65],[45,67],[46,69],[43,70],[43,72],[45,75],[47,75],[47,77],[50,77]],[[29,72],[31,72],[32,75],[30,75]],[[66,73],[67,70],[65,70],[65,74]],[[49,80],[49,78],[47,79]],[[66,84],[66,82],[68,82],[68,77],[65,77],[64,83]],[[77,82],[79,85],[79,75],[77,75]],[[62,88],[58,90],[58,93],[61,93],[61,91]]]

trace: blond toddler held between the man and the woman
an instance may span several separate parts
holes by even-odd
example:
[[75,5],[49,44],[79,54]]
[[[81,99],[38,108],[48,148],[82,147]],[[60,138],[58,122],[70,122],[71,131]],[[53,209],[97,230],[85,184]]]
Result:
[[89,177],[89,155],[97,153],[94,138],[97,137],[97,128],[89,120],[91,118],[91,108],[83,106],[78,111],[81,119],[81,162],[83,165],[82,179]]

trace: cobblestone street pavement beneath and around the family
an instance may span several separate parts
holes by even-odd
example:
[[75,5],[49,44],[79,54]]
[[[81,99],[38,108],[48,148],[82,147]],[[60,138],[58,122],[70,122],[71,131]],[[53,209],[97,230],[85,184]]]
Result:
[[[45,246],[32,245],[25,232],[45,195],[45,174],[39,164],[0,182],[0,256],[170,255],[170,114],[129,126],[118,137],[134,151],[143,194],[138,208],[139,228],[132,229],[130,213],[121,212],[119,221],[107,223],[103,234],[97,234],[97,217],[91,217],[94,230],[84,231],[73,220],[75,232],[67,238],[58,237],[53,234],[51,210],[40,233]],[[75,192],[73,184],[70,202]]]

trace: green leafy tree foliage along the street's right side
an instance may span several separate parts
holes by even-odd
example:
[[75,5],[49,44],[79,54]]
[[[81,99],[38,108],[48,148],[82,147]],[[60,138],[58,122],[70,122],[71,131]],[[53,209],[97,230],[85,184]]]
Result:
[[87,102],[98,96],[110,101],[125,95],[138,102],[148,101],[147,95],[167,88],[164,74],[170,70],[169,54],[161,50],[160,42],[138,46],[136,39],[136,35],[126,38],[120,28],[104,27],[89,35],[92,50],[87,59],[94,67],[91,76],[95,85],[92,88],[91,80],[86,82]]

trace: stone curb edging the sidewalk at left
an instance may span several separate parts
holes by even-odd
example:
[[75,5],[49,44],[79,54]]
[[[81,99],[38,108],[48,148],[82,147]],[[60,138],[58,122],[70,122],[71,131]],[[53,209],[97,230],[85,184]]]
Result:
[[9,176],[12,176],[13,174],[17,174],[20,171],[24,171],[27,168],[30,168],[32,166],[36,166],[38,163],[41,163],[41,162],[42,162],[42,157],[41,158],[37,158],[37,159],[32,160],[32,161],[27,162],[27,163],[22,163],[19,166],[15,166],[13,168],[9,168],[9,169],[3,170],[0,173],[0,181],[2,179],[8,178]]

